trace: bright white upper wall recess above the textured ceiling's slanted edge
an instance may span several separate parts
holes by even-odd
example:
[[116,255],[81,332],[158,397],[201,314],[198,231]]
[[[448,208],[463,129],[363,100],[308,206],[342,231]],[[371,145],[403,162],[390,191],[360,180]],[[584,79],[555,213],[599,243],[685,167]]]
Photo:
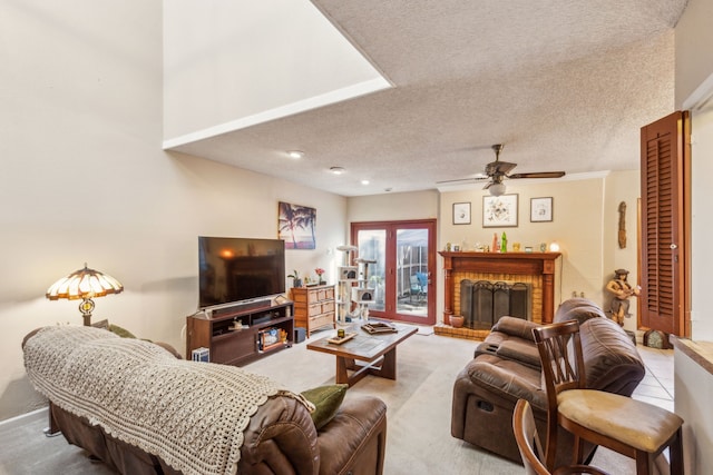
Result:
[[390,87],[307,0],[165,0],[164,17],[172,145]]

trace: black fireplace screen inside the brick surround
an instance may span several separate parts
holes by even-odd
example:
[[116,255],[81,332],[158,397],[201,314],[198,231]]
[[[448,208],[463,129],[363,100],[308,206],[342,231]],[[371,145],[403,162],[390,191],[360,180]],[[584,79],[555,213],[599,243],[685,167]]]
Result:
[[529,320],[530,285],[463,279],[460,313],[463,326],[472,329],[490,329],[505,315]]

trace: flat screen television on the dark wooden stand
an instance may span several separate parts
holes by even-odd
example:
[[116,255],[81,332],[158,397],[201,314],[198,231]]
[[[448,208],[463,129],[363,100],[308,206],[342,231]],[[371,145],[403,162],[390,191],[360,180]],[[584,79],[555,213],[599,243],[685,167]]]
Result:
[[285,291],[285,243],[198,236],[198,307],[270,298]]

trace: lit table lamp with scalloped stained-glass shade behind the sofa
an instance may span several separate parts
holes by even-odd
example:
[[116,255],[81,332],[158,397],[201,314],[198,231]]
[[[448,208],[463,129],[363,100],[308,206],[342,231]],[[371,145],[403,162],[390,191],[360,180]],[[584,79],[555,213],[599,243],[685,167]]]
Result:
[[52,284],[45,296],[50,300],[60,298],[76,300],[81,298],[79,311],[85,318],[85,326],[90,326],[91,310],[94,310],[92,298],[104,297],[109,294],[120,294],[123,290],[124,286],[117,279],[90,269],[85,264],[84,269],[76,270]]

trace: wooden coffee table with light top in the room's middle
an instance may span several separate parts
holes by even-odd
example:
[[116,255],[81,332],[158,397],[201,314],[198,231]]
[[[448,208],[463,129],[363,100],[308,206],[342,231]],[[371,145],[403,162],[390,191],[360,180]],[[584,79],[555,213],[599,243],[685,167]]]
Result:
[[371,335],[363,330],[361,325],[362,323],[359,323],[344,328],[348,335],[356,334],[348,342],[330,343],[329,340],[336,336],[336,331],[330,331],[330,336],[307,344],[307,349],[336,356],[338,384],[353,386],[367,375],[395,379],[397,345],[417,333],[418,328],[393,324],[398,331]]

